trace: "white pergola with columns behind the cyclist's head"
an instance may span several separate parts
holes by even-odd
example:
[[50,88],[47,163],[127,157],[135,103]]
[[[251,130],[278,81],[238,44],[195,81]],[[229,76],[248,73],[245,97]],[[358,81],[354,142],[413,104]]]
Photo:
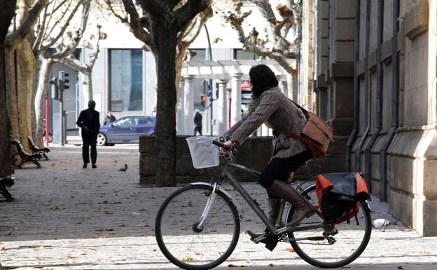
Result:
[[[193,111],[194,111],[194,79],[219,80],[219,98],[217,108],[216,125],[219,135],[228,129],[228,93],[227,86],[230,81],[231,104],[230,123],[233,125],[241,119],[241,83],[249,80],[249,69],[256,65],[268,65],[277,75],[279,87],[283,93],[291,97],[293,93],[289,90],[287,79],[289,74],[277,64],[275,60],[207,60],[184,62],[181,73],[181,85],[179,87],[179,99],[177,101],[176,130],[178,135],[190,135],[193,132]],[[296,65],[295,60],[290,60],[290,65]],[[215,110],[215,109],[214,109]]]

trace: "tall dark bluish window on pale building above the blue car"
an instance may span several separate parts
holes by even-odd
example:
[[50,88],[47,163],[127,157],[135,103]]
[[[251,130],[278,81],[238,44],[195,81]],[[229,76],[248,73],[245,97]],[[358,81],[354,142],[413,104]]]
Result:
[[111,112],[143,110],[143,51],[109,51],[109,109]]

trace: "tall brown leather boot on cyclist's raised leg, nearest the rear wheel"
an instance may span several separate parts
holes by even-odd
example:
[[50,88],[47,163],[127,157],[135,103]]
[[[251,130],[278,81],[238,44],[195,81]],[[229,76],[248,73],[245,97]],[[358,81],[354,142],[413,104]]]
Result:
[[300,197],[299,194],[285,182],[280,180],[273,181],[268,191],[284,198],[285,201],[291,203],[295,208],[296,212],[294,212],[293,219],[287,225],[296,226],[296,224],[303,220],[304,217],[314,215],[314,209],[311,205],[308,204],[304,198]]

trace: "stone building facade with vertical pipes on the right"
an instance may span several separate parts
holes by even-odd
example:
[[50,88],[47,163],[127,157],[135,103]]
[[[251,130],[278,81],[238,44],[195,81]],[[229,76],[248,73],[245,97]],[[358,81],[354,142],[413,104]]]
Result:
[[312,54],[300,65],[333,127],[335,162],[361,171],[398,220],[437,236],[437,1],[303,2]]

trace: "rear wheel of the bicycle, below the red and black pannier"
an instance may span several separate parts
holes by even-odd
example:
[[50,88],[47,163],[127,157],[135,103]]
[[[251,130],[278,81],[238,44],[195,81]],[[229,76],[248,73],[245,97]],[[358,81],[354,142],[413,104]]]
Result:
[[[303,191],[302,195],[313,205],[318,205],[316,186],[313,185]],[[288,220],[293,218],[294,209],[289,210]],[[366,249],[372,224],[370,219],[370,209],[364,202],[360,202],[360,209],[357,214],[359,225],[356,224],[355,217],[350,223],[343,222],[336,224],[337,234],[330,235],[331,241],[326,238],[323,241],[290,241],[291,246],[305,262],[321,268],[336,268],[345,266],[353,262]],[[315,225],[323,222],[319,215],[312,215],[300,222],[299,227]],[[294,231],[289,233],[289,238],[305,238],[311,236],[323,236],[323,228],[308,231]],[[334,241],[332,241],[334,240]],[[331,243],[330,243],[331,242]]]

